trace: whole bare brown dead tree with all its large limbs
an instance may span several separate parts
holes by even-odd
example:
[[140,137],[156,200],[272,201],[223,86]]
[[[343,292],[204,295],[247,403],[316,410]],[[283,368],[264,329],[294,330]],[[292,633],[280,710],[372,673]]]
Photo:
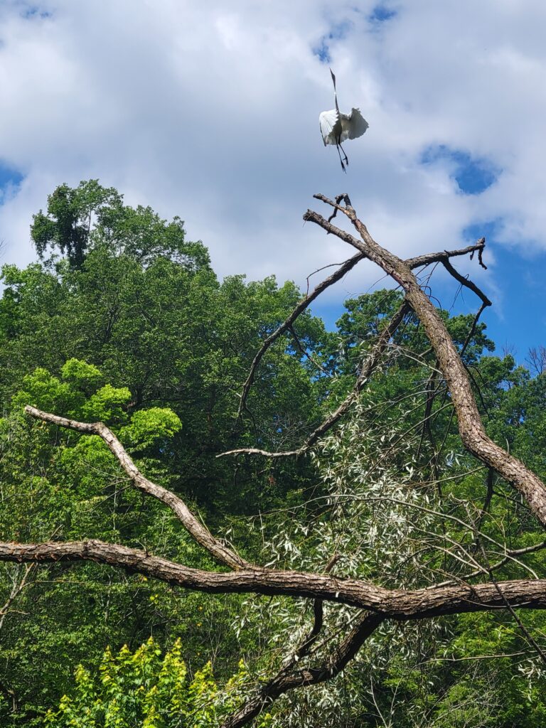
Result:
[[[476,293],[482,301],[482,306],[476,317],[475,327],[480,313],[490,302],[473,282],[456,272],[451,260],[456,256],[467,254],[473,256],[477,253],[478,261],[483,266],[482,253],[485,240],[482,239],[475,245],[470,245],[461,250],[443,250],[438,253],[429,253],[403,260],[381,248],[373,240],[365,225],[357,218],[347,194],[339,195],[334,200],[323,195],[315,195],[315,197],[331,207],[333,213],[329,218],[325,218],[320,213],[308,210],[304,215],[304,220],[317,224],[328,234],[334,234],[340,240],[347,242],[353,248],[356,248],[357,254],[353,258],[349,258],[336,274],[333,274],[306,296],[285,323],[264,342],[263,347],[256,354],[248,379],[242,389],[240,414],[245,411],[248,392],[256,376],[259,363],[274,340],[284,331],[290,330],[298,314],[304,311],[306,306],[319,293],[325,290],[328,285],[332,285],[336,280],[339,280],[344,272],[347,272],[360,260],[366,258],[373,261],[400,286],[404,294],[403,305],[384,327],[376,344],[368,352],[367,358],[360,368],[355,387],[347,400],[309,435],[300,448],[289,452],[274,453],[256,448],[247,448],[223,453],[222,455],[255,454],[269,457],[287,457],[301,455],[308,451],[325,432],[339,421],[341,416],[355,402],[363,388],[363,384],[373,376],[373,372],[379,366],[381,355],[387,348],[397,327],[406,314],[412,312],[419,319],[430,341],[430,346],[438,362],[438,370],[451,395],[459,433],[467,451],[483,462],[490,472],[496,472],[507,483],[510,483],[521,494],[539,523],[546,526],[545,484],[522,462],[499,447],[486,435],[480,420],[470,379],[460,354],[435,306],[425,295],[413,272],[419,266],[430,263],[443,264],[446,270],[461,285]],[[333,224],[333,218],[336,217],[337,213],[347,217],[359,237],[355,237]],[[472,327],[472,330],[474,327]],[[252,695],[248,695],[239,710],[226,719],[223,728],[238,728],[249,724],[267,705],[294,688],[311,686],[331,680],[348,665],[368,636],[384,620],[408,622],[411,620],[424,620],[427,617],[436,617],[443,614],[479,612],[499,607],[508,608],[514,614],[520,609],[546,609],[546,579],[496,580],[493,576],[493,569],[498,564],[488,569],[478,569],[473,574],[469,574],[466,581],[461,579],[448,580],[430,587],[411,590],[387,589],[362,579],[334,576],[331,574],[330,564],[326,566],[323,573],[309,573],[307,571],[268,569],[259,564],[248,563],[234,548],[226,545],[221,539],[215,538],[207,527],[191,513],[189,507],[179,496],[145,478],[124,450],[122,443],[104,424],[100,422],[93,424],[75,422],[62,416],[39,411],[30,405],[26,407],[26,411],[30,416],[43,422],[70,428],[83,435],[98,435],[102,438],[110,451],[116,456],[119,464],[130,478],[132,485],[142,491],[143,494],[152,496],[169,507],[195,541],[210,553],[224,567],[224,570],[192,569],[181,563],[149,555],[141,550],[96,540],[36,544],[1,543],[1,561],[25,563],[94,561],[122,569],[130,569],[132,572],[160,579],[185,589],[210,593],[285,595],[313,600],[314,620],[301,644],[293,654],[285,656],[282,661],[282,668],[278,670],[276,675],[272,676]],[[545,545],[546,542],[527,549],[514,549],[510,553],[506,551],[505,558],[516,558],[523,553],[545,547]],[[471,581],[470,577],[474,580]],[[475,579],[478,579],[478,581],[475,581]],[[360,610],[360,614],[352,623],[352,627],[347,630],[347,633],[339,641],[339,644],[331,650],[326,660],[301,668],[299,666],[301,665],[301,659],[312,655],[312,648],[323,628],[323,604],[325,601],[353,606]]]

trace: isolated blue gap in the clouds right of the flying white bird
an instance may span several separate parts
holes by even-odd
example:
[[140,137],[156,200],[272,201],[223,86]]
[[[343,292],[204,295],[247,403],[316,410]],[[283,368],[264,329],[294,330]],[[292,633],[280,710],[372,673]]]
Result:
[[488,159],[472,157],[462,149],[451,149],[445,144],[427,147],[421,156],[423,165],[446,161],[453,165],[454,178],[462,194],[480,194],[499,178],[501,170]]

